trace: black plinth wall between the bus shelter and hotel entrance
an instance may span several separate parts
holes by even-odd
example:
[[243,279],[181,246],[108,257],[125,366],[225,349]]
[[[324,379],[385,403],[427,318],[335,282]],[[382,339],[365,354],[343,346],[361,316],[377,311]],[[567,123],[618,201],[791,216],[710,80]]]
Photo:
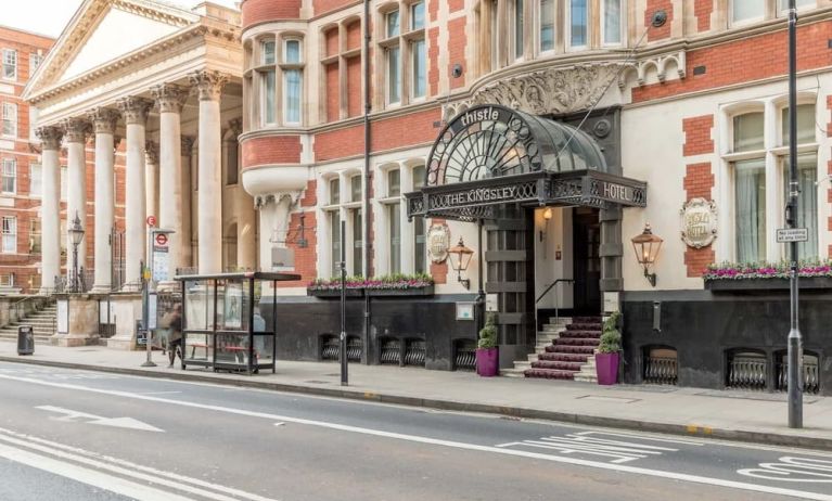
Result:
[[[381,342],[399,339],[425,342],[425,368],[453,370],[453,346],[476,339],[474,321],[457,320],[457,301],[474,301],[475,295],[434,297],[373,297],[370,303],[370,333],[364,331],[364,298],[347,300],[347,336],[362,339],[363,361],[380,363]],[[271,321],[271,298],[264,298],[261,310]],[[266,306],[268,305],[268,306]],[[337,298],[278,298],[278,360],[321,360],[321,342],[341,333],[341,305]]]

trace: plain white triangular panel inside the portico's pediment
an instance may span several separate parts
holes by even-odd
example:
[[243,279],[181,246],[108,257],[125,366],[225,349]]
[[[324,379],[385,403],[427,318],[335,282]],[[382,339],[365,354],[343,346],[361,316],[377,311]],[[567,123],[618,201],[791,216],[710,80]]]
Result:
[[75,78],[178,30],[177,26],[110,8],[56,81]]

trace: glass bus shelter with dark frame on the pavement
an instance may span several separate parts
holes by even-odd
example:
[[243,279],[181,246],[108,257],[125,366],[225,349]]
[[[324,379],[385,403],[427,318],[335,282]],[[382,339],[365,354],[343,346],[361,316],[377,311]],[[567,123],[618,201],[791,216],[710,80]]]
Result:
[[277,285],[300,275],[241,272],[176,280],[183,306],[182,370],[196,365],[247,374],[260,369],[274,372]]

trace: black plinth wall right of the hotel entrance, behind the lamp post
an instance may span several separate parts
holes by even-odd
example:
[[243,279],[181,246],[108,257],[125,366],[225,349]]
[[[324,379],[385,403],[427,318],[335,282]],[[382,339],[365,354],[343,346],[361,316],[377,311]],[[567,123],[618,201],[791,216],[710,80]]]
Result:
[[[653,330],[654,301],[661,301],[661,332]],[[832,291],[802,291],[799,308],[804,351],[820,357],[820,394],[832,395]],[[786,349],[789,311],[788,290],[625,293],[625,382],[643,382],[645,349],[671,347],[679,386],[722,389],[731,350],[763,351],[769,368],[775,365],[776,354]],[[768,389],[773,390],[773,374]]]

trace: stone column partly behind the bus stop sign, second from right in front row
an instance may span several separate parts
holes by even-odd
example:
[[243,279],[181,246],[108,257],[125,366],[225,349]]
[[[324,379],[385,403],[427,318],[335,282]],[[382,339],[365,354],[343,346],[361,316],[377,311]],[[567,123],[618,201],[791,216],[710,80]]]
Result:
[[182,128],[180,113],[188,90],[175,85],[151,89],[159,111],[159,228],[174,230],[169,239],[170,275],[183,266],[185,239],[182,228]]

